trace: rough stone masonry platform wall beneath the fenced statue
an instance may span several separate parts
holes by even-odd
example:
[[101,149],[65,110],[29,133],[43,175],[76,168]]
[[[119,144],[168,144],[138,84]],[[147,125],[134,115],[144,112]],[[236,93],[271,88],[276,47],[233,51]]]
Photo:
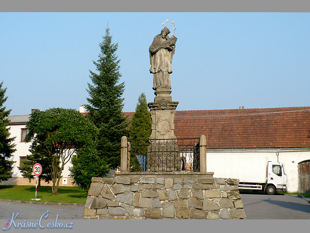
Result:
[[93,177],[84,219],[245,219],[239,180],[213,172],[117,172]]

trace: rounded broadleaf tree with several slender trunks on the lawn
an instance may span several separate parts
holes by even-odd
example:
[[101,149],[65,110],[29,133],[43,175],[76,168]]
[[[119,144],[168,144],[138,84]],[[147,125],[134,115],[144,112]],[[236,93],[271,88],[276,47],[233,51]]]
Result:
[[57,195],[65,164],[80,148],[86,145],[94,147],[96,128],[78,111],[63,108],[35,110],[26,126],[25,140],[32,142],[31,149],[42,147],[47,151],[45,156],[50,159],[52,194]]

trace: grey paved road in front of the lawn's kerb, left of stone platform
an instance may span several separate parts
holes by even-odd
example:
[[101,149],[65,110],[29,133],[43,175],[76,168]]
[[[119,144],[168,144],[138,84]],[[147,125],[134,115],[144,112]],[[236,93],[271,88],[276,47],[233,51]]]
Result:
[[0,201],[0,219],[8,219],[13,213],[19,213],[18,219],[39,219],[50,210],[48,219],[83,219],[84,206],[59,206],[44,204],[28,204]]

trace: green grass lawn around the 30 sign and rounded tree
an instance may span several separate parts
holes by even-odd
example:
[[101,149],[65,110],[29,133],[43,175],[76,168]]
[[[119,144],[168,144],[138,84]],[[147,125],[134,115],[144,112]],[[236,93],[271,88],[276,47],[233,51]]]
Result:
[[[0,199],[30,200],[35,198],[34,185],[0,185]],[[37,191],[39,201],[85,203],[87,194],[79,187],[58,187],[58,195],[52,195],[51,186],[41,186]]]

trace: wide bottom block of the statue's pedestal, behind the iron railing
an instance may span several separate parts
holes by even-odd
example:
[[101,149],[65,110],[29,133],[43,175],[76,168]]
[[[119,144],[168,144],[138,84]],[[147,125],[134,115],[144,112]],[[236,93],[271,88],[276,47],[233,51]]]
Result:
[[175,139],[150,140],[147,148],[147,171],[180,171],[181,158]]

